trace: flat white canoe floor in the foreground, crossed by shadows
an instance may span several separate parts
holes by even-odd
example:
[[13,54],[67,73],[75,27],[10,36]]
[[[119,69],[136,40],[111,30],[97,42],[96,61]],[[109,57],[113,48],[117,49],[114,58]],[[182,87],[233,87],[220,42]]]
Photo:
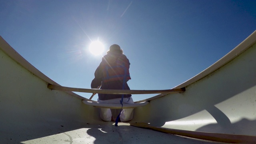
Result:
[[60,134],[22,141],[22,144],[226,144],[185,138],[119,123],[91,125]]

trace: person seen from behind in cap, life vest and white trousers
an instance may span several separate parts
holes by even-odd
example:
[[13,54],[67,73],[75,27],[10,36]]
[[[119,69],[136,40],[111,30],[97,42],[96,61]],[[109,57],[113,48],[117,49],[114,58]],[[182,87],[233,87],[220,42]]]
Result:
[[[123,54],[123,50],[117,44],[110,46],[107,54],[103,56],[102,62],[96,69],[92,80],[91,88],[109,90],[130,90],[127,81],[130,80],[130,62]],[[109,104],[120,104],[123,96],[123,103],[133,104],[131,94],[98,94],[98,102]],[[101,108],[100,118],[104,121],[116,121],[109,108]],[[120,114],[121,122],[130,121],[133,118],[133,108],[123,109]]]

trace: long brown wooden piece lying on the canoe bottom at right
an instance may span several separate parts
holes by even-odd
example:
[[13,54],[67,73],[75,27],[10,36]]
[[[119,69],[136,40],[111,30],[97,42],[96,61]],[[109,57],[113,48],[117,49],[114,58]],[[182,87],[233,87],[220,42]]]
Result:
[[142,122],[131,123],[130,125],[140,127],[140,128],[156,130],[156,131],[164,132],[168,134],[176,134],[180,136],[187,136],[190,138],[198,138],[202,140],[211,140],[216,142],[239,143],[239,144],[255,144],[256,142],[256,136],[195,132],[195,131],[189,131],[189,130],[176,130],[171,128],[154,127],[154,126],[150,126],[147,123],[142,123]]

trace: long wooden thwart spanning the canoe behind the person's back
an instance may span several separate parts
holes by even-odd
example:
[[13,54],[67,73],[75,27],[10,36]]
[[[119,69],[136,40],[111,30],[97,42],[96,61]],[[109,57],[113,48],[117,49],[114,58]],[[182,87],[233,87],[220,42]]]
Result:
[[185,88],[170,89],[170,90],[102,90],[102,89],[70,88],[65,86],[56,86],[52,84],[49,84],[48,88],[52,90],[87,92],[87,93],[98,93],[98,94],[174,94],[174,93],[185,91]]

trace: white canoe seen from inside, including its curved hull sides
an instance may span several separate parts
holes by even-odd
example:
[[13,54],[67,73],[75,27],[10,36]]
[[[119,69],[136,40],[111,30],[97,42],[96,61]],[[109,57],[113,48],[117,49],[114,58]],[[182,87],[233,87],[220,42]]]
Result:
[[126,106],[134,118],[117,127],[100,119],[105,106],[74,93],[84,88],[60,86],[2,37],[0,66],[3,144],[256,143],[256,31],[186,82],[146,91],[158,95]]

